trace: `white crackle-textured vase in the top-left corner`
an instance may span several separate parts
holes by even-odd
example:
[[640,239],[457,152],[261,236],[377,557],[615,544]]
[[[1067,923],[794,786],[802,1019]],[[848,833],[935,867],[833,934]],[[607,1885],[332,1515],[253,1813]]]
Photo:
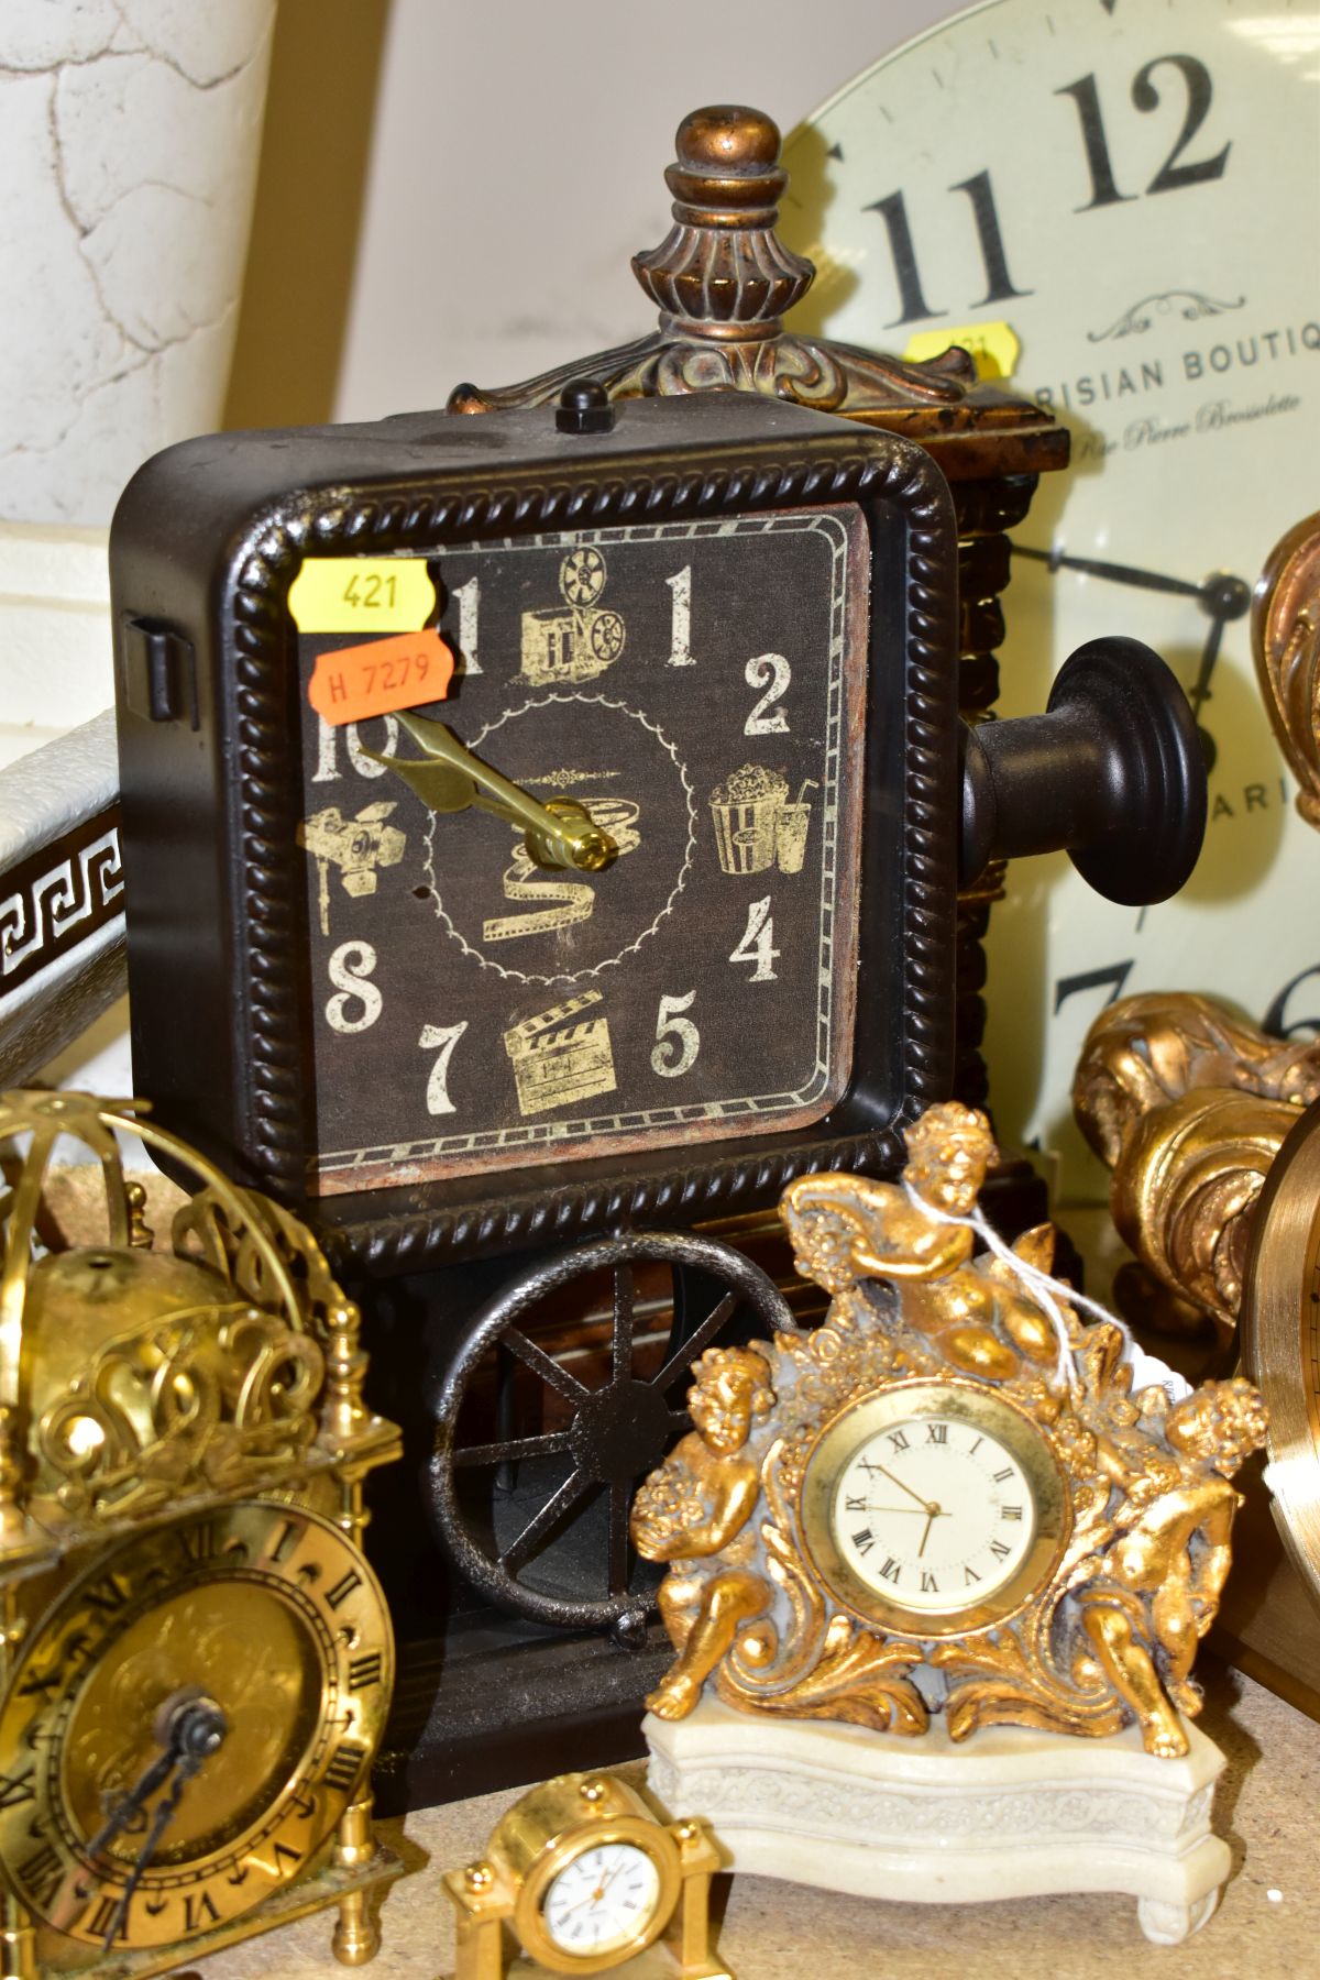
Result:
[[0,766],[111,703],[115,501],[220,426],[273,22],[0,4]]

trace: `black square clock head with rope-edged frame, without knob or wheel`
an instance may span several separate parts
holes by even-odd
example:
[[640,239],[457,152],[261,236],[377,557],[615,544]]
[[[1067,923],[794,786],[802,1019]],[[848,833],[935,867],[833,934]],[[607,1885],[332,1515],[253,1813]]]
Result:
[[370,1267],[889,1168],[948,1091],[938,469],[604,418],[216,436],[115,519],[137,1083]]

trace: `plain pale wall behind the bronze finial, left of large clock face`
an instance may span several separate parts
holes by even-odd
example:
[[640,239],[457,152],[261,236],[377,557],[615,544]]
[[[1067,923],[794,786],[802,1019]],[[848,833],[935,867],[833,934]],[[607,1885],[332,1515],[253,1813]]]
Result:
[[942,0],[394,0],[336,418],[437,406],[655,327],[629,255],[669,230],[681,117],[788,135]]

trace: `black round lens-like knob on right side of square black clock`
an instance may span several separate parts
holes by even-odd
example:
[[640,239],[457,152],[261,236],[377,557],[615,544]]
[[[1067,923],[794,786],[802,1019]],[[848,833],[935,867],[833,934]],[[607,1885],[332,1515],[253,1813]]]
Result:
[[1168,901],[1205,838],[1205,760],[1176,675],[1140,640],[1090,640],[1045,715],[962,729],[958,869],[1067,851],[1128,907]]

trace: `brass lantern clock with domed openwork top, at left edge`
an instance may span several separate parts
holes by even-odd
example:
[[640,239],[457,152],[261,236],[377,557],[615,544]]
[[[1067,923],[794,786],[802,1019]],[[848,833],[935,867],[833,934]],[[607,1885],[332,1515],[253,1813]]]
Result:
[[[154,1249],[115,1129],[202,1192]],[[109,1241],[49,1247],[51,1152],[81,1140]],[[362,1477],[396,1455],[305,1230],[141,1103],[6,1093],[0,1196],[0,1970],[158,1974],[366,1899],[402,1865],[368,1768],[394,1683]]]

